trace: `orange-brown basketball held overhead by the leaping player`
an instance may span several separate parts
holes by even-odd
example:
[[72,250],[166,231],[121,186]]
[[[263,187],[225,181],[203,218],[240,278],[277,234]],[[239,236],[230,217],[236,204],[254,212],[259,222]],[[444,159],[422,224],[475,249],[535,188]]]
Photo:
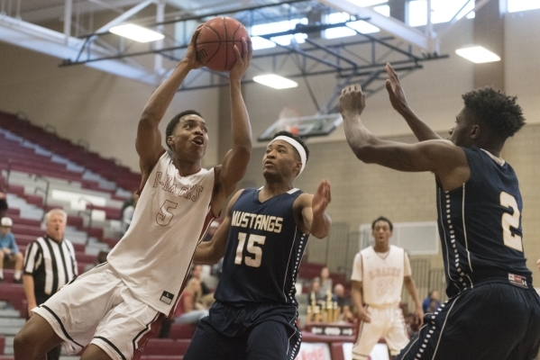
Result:
[[251,42],[242,23],[232,17],[208,20],[198,34],[196,49],[200,62],[214,71],[229,71],[236,62],[234,45],[243,55],[242,38]]

